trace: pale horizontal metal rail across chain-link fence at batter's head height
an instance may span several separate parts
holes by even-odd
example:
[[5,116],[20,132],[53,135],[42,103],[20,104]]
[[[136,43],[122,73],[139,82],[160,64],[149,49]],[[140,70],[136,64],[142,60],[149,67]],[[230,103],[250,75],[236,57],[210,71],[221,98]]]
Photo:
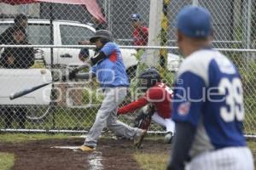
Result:
[[[95,48],[94,45],[0,45],[0,48]],[[177,49],[168,46],[119,46],[119,48]],[[256,52],[256,48],[213,48],[219,51]]]

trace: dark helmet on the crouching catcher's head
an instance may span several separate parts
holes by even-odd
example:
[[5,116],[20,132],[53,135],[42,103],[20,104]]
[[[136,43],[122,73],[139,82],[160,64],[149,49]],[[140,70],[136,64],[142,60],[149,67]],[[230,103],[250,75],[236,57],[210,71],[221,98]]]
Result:
[[141,79],[140,86],[142,88],[151,88],[156,82],[160,82],[160,73],[154,69],[149,68],[138,77]]

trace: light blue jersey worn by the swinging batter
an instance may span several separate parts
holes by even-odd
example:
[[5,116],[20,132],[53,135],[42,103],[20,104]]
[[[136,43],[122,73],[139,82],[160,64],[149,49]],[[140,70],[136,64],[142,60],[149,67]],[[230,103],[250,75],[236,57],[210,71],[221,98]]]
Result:
[[118,45],[114,42],[108,42],[101,51],[107,55],[107,58],[91,68],[101,87],[128,87],[129,81]]

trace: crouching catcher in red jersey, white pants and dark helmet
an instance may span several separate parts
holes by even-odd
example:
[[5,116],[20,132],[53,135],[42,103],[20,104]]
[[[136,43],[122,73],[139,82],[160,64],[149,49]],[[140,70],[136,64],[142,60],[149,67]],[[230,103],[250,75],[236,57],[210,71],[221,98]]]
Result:
[[[171,143],[175,131],[175,124],[172,121],[172,89],[161,82],[160,73],[154,68],[149,68],[139,76],[141,88],[145,91],[143,97],[119,108],[118,115],[136,111],[145,105],[153,105],[154,112],[152,121],[162,127],[166,127],[165,142]],[[149,108],[149,106],[148,106]],[[147,114],[147,109],[143,109],[143,114]],[[142,116],[138,116],[142,117]]]

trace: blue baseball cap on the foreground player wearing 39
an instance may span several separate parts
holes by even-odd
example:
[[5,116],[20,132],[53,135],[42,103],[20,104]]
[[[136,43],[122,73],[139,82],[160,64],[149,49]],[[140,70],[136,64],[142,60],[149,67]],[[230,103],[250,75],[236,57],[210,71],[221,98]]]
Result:
[[176,26],[188,37],[208,37],[212,34],[212,17],[207,8],[187,6],[177,14]]

